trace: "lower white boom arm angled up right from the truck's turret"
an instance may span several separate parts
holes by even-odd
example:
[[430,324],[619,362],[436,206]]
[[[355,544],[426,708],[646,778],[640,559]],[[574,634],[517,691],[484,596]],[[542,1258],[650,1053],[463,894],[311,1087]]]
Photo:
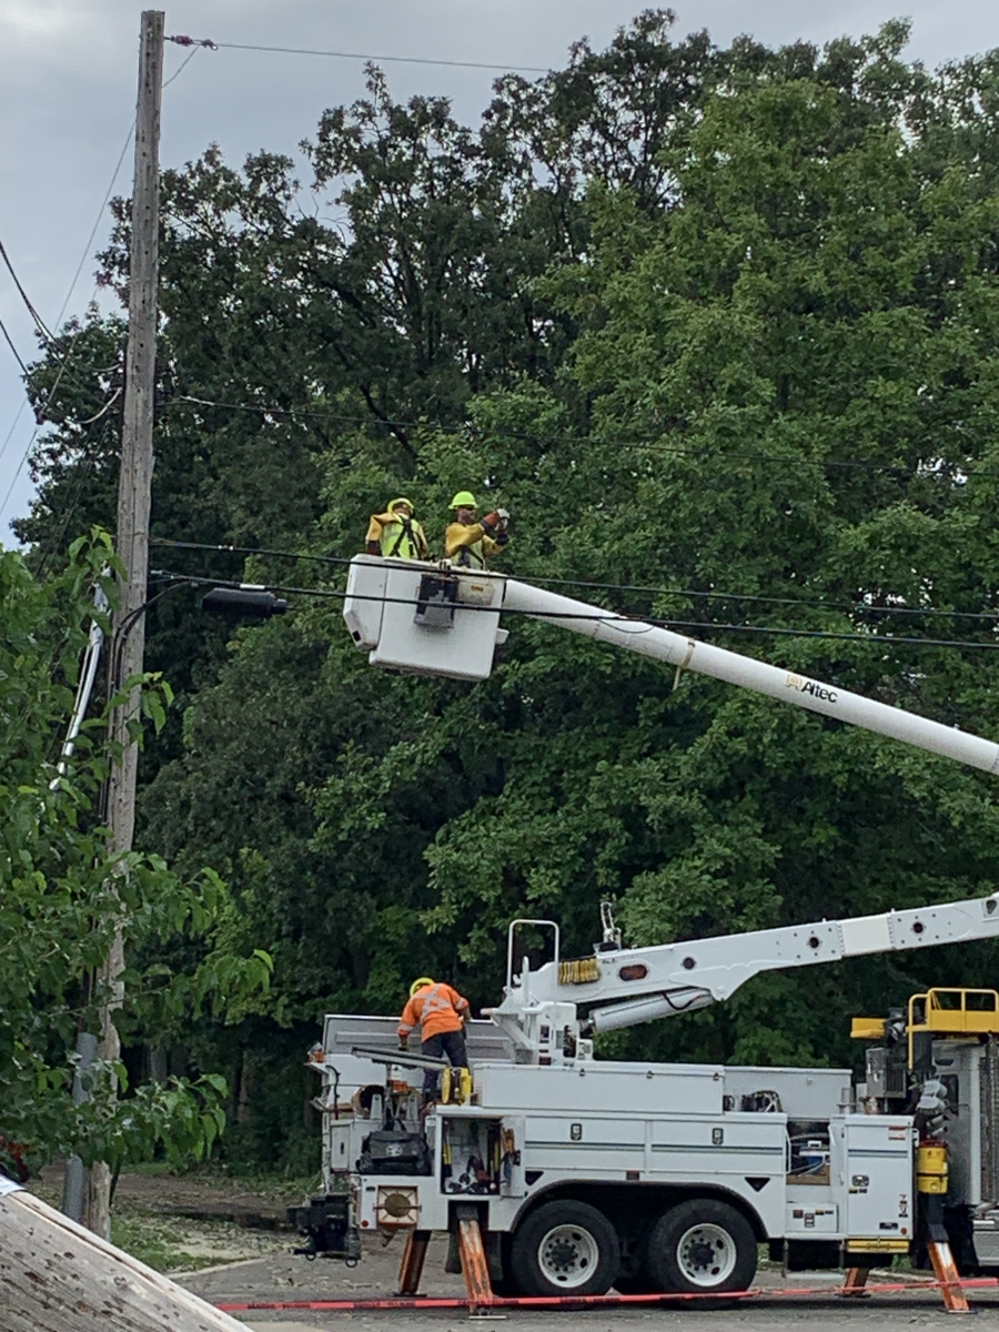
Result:
[[[593,1006],[589,1027],[610,1031],[729,999],[761,971],[996,936],[999,892],[883,915],[817,920],[649,948],[607,950],[605,944],[590,958],[547,963],[529,975],[527,986],[533,1003]],[[498,1011],[515,1011],[525,998],[519,990],[511,990]]]

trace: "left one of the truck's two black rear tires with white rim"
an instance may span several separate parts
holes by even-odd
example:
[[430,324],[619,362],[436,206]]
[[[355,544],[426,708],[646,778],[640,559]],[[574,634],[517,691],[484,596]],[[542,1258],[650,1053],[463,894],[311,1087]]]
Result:
[[525,1295],[606,1295],[621,1263],[617,1232],[589,1203],[543,1203],[518,1227],[510,1268]]

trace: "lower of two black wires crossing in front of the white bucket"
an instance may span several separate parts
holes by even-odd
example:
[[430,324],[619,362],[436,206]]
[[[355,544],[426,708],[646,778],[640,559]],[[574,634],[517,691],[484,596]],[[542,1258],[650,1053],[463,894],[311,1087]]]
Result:
[[[248,589],[260,591],[273,591],[282,593],[286,597],[316,597],[321,601],[337,599],[344,601],[348,595],[345,590],[336,587],[294,587],[285,586],[282,583],[248,583],[236,579],[226,578],[200,578],[192,574],[174,574],[168,569],[153,569],[149,571],[151,582],[185,582],[190,586],[201,587],[232,587],[232,589]],[[352,593],[357,601],[374,601],[382,605],[396,605],[396,606],[413,606],[416,602],[412,597],[373,597],[358,593]],[[474,606],[465,605],[462,610],[470,610],[473,613],[496,614],[496,610],[490,606]],[[633,625],[635,630],[642,629],[697,629],[701,633],[737,633],[737,634],[765,634],[775,635],[781,638],[823,638],[834,639],[838,642],[855,642],[864,643],[876,647],[960,647],[984,651],[998,651],[999,642],[995,643],[979,643],[968,639],[954,639],[954,638],[899,638],[895,634],[838,634],[829,630],[818,629],[770,629],[766,625],[719,625],[715,621],[699,621],[699,619],[659,619],[659,618],[639,618],[637,615],[622,615],[614,611],[605,611],[603,614],[579,614],[578,611],[543,611],[543,613],[530,613],[522,610],[505,610],[501,607],[502,614],[514,615],[529,615],[531,619],[547,621],[547,619],[573,619],[573,621],[610,621],[614,623]]]

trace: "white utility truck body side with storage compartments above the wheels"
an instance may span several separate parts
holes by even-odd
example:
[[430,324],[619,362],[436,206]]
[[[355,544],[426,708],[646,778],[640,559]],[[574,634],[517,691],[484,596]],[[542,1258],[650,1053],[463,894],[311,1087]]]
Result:
[[[357,1031],[354,1023],[332,1015],[328,1030]],[[317,1066],[325,1082],[329,1064]],[[373,1067],[382,1082],[386,1066]],[[385,1208],[388,1199],[398,1211],[405,1195],[409,1224],[421,1229],[445,1229],[450,1205],[468,1199],[485,1207],[489,1231],[509,1232],[538,1196],[582,1184],[671,1187],[691,1195],[709,1188],[738,1200],[773,1240],[859,1243],[908,1235],[912,1120],[844,1114],[846,1070],[485,1060],[473,1063],[473,1103],[437,1106],[426,1119],[430,1175],[358,1173],[378,1123],[364,1114],[334,1119],[326,1112],[324,1184],[328,1192],[350,1188],[354,1224],[362,1231],[405,1228]],[[420,1078],[393,1068],[393,1079],[406,1075],[410,1083]],[[782,1111],[723,1108],[773,1092],[795,1120]],[[829,1126],[829,1166],[814,1180],[790,1172],[789,1124],[798,1123]],[[513,1134],[515,1160],[500,1184],[485,1188],[470,1169],[472,1158],[486,1158],[490,1135],[501,1130]]]

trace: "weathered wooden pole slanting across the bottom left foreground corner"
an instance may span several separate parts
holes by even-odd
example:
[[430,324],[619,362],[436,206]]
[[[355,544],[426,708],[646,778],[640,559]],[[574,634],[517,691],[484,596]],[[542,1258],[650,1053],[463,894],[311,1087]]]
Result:
[[48,1203],[0,1179],[3,1332],[246,1332]]

